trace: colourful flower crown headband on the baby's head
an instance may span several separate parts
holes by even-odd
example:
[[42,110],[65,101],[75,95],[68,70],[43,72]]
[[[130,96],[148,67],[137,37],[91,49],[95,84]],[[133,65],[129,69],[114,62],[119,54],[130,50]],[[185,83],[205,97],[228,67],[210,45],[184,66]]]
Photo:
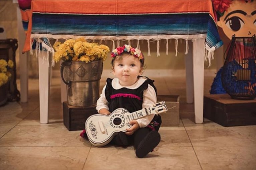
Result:
[[115,59],[116,56],[121,55],[123,52],[128,52],[134,57],[137,57],[139,60],[142,60],[144,58],[141,50],[139,50],[138,48],[133,48],[131,45],[123,45],[117,47],[111,52],[111,57]]

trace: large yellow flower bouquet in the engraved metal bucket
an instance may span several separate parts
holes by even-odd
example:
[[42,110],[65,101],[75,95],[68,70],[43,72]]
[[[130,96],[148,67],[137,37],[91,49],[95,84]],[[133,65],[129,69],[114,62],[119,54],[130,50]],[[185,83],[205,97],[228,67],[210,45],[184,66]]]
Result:
[[89,43],[84,38],[68,39],[64,43],[56,42],[53,48],[55,62],[60,59],[64,61],[84,61],[86,63],[97,60],[105,61],[107,53],[110,51],[108,46]]

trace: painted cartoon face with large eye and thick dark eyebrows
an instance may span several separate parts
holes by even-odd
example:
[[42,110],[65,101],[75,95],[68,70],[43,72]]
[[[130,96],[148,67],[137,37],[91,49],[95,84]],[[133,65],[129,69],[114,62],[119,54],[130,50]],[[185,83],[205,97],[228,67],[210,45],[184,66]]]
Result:
[[256,34],[256,1],[233,0],[224,15],[220,17],[218,26],[231,39],[236,37],[251,37]]

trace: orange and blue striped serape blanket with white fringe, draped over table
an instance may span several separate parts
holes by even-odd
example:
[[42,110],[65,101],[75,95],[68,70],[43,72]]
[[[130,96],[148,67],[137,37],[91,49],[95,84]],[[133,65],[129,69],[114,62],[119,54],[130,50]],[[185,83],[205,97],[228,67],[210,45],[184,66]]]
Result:
[[223,44],[211,0],[32,0],[30,14],[23,52],[32,40],[51,51],[50,39],[112,40],[114,47],[115,40],[205,38],[210,61]]

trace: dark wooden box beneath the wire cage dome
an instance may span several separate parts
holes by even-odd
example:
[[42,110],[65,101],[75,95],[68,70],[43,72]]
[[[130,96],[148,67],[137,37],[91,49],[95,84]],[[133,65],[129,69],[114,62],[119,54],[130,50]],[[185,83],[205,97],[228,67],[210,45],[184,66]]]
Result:
[[256,99],[236,100],[228,94],[205,95],[204,117],[225,127],[256,125]]

